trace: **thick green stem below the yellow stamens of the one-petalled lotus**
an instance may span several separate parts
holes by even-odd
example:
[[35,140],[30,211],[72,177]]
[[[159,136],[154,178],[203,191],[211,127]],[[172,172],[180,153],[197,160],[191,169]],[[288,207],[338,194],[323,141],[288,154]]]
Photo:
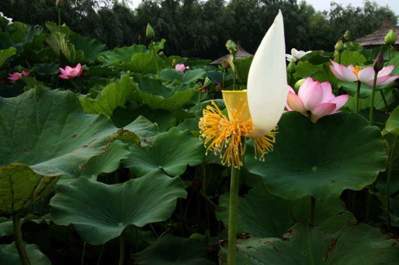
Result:
[[228,210],[228,254],[227,264],[235,265],[237,247],[238,188],[240,170],[231,166],[230,200]]

